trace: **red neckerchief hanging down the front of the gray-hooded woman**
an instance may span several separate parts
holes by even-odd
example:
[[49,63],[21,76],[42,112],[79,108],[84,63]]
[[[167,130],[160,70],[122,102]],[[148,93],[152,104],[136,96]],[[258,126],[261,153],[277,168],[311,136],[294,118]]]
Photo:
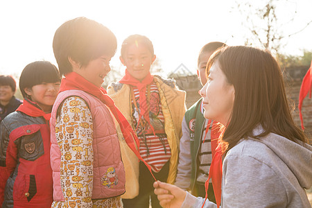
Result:
[[[209,121],[207,123],[205,137],[204,137],[203,142],[205,142],[205,138],[206,138],[207,132],[209,130],[210,124],[211,124],[211,119],[209,119]],[[221,148],[221,146],[219,144],[220,135],[223,135],[223,133],[220,134],[219,123],[213,122],[212,127],[211,127],[211,137],[210,137],[211,138],[212,161],[211,161],[211,165],[209,168],[209,176],[205,182],[205,191],[206,191],[205,202],[208,198],[209,180],[211,178],[212,187],[214,189],[214,196],[216,198],[217,207],[220,207],[221,187],[222,187],[222,155],[223,155],[223,149]],[[204,207],[205,202],[202,205],[202,207]]]

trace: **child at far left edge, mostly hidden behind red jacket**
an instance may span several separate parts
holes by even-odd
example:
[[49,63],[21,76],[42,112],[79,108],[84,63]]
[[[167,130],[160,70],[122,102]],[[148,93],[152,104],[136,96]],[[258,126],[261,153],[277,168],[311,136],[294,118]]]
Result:
[[0,122],[21,105],[21,101],[14,96],[15,89],[16,83],[12,76],[0,76]]

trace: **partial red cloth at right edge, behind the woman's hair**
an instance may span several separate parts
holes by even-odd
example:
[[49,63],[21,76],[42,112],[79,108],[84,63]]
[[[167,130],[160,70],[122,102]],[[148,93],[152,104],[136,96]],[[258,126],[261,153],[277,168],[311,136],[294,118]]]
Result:
[[299,116],[300,116],[300,121],[301,121],[301,128],[304,130],[304,124],[303,124],[303,119],[302,119],[302,102],[304,101],[304,98],[306,95],[310,92],[309,98],[311,98],[311,91],[312,91],[312,61],[311,61],[311,67],[309,70],[306,72],[306,76],[304,76],[302,80],[302,84],[300,87],[300,93],[299,93]]

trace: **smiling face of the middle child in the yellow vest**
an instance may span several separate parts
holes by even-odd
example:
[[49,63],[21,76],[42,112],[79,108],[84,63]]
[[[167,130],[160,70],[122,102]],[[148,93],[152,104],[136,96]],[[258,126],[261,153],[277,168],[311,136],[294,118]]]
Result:
[[133,78],[141,81],[150,73],[150,65],[156,59],[144,44],[132,44],[128,46],[124,57],[120,57],[121,62]]

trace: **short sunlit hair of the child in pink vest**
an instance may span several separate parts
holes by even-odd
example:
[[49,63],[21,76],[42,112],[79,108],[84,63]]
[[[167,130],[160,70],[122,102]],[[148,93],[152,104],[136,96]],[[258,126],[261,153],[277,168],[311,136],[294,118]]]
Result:
[[116,53],[115,35],[92,19],[78,17],[62,24],[53,38],[53,51],[60,75],[71,72],[68,58],[86,66],[90,60],[101,55],[113,56]]

